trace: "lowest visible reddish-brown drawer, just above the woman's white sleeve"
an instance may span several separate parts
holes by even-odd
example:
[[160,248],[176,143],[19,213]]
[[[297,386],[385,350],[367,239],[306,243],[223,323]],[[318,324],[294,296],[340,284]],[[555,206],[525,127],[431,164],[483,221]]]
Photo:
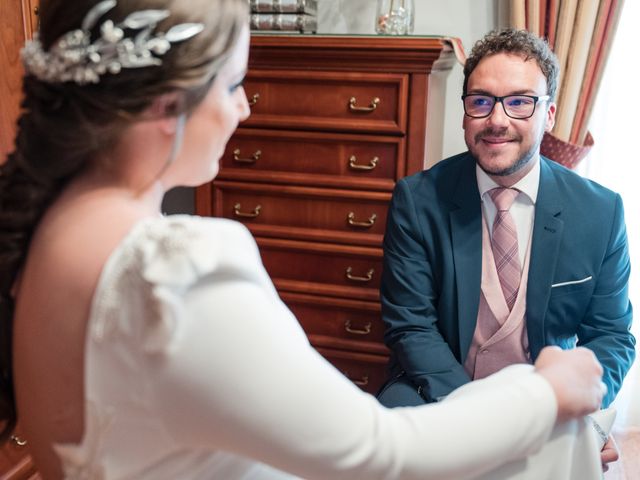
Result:
[[321,347],[316,350],[365,392],[375,395],[387,379],[387,357]]

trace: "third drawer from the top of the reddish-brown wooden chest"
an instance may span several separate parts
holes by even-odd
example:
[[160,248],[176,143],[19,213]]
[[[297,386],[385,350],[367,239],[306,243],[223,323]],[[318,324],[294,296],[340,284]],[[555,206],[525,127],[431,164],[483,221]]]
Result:
[[256,236],[380,246],[391,193],[213,183],[215,216],[233,218]]

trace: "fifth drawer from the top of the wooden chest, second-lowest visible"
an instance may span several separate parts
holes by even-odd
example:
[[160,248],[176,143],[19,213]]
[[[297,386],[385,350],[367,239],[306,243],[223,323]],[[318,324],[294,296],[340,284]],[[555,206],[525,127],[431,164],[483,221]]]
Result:
[[318,347],[385,355],[380,304],[304,293],[279,292]]

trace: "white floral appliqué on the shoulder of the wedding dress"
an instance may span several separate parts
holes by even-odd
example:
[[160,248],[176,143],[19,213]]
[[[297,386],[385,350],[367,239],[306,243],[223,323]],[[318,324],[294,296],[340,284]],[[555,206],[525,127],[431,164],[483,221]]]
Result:
[[[110,259],[94,305],[93,340],[140,335],[146,353],[170,348],[183,313],[185,291],[218,264],[210,223],[172,216],[139,224]],[[123,315],[123,301],[141,303],[131,310],[145,312],[145,321]]]

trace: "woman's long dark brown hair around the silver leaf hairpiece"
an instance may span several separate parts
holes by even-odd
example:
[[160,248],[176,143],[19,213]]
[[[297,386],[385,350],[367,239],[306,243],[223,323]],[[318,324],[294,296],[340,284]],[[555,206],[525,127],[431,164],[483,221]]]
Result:
[[[39,39],[47,51],[65,33],[80,28],[98,0],[42,0]],[[180,23],[204,30],[175,43],[158,66],[105,74],[95,84],[44,82],[26,73],[15,150],[0,165],[0,438],[16,422],[12,374],[12,288],[31,236],[47,207],[96,154],[158,96],[178,92],[175,112],[188,114],[206,95],[247,22],[246,0],[120,0],[104,15],[114,23],[146,9],[168,10],[158,24],[166,32]],[[92,32],[95,34],[96,32]]]

